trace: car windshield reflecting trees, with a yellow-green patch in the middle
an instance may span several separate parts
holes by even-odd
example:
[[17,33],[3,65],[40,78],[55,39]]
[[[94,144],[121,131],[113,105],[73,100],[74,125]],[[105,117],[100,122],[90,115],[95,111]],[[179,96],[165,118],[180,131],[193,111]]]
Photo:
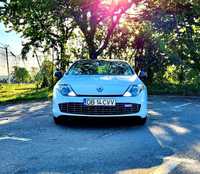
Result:
[[71,66],[68,75],[133,75],[130,65],[122,61],[82,60]]

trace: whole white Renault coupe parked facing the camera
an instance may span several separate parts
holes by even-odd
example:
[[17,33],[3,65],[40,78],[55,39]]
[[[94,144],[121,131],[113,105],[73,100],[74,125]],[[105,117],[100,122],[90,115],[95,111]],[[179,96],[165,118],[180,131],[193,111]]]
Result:
[[55,123],[61,117],[147,118],[147,88],[131,66],[116,60],[76,61],[53,90]]

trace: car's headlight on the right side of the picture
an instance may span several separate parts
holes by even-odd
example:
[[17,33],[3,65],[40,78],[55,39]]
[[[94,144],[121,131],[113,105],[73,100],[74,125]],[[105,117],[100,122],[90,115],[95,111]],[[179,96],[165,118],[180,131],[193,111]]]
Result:
[[125,92],[124,97],[136,97],[144,90],[143,84],[131,85]]

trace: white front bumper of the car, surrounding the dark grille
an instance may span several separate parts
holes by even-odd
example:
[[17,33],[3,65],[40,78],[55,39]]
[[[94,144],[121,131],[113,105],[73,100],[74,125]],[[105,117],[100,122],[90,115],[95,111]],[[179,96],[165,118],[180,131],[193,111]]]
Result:
[[[102,114],[85,114],[85,113],[66,113],[61,112],[59,104],[63,103],[82,103],[85,98],[113,98],[116,100],[117,104],[123,103],[131,103],[131,104],[138,104],[140,105],[139,112],[134,113],[120,113],[120,114],[109,114],[109,115],[102,115]],[[76,97],[66,97],[62,96],[59,92],[54,91],[53,95],[53,107],[52,107],[54,117],[59,116],[77,116],[77,117],[132,117],[132,116],[139,116],[141,118],[145,118],[147,116],[147,90],[143,90],[137,97],[89,97],[89,96],[76,96]]]

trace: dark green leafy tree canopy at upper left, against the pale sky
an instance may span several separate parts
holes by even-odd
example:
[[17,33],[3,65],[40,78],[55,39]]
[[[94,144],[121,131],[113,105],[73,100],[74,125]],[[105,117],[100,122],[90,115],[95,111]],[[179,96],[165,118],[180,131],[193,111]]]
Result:
[[[22,57],[32,50],[57,50],[62,60],[65,45],[74,29],[74,22],[66,22],[67,17],[56,14],[57,1],[54,0],[0,0],[0,20],[9,30],[15,30],[25,38]],[[2,5],[3,4],[3,5]]]

